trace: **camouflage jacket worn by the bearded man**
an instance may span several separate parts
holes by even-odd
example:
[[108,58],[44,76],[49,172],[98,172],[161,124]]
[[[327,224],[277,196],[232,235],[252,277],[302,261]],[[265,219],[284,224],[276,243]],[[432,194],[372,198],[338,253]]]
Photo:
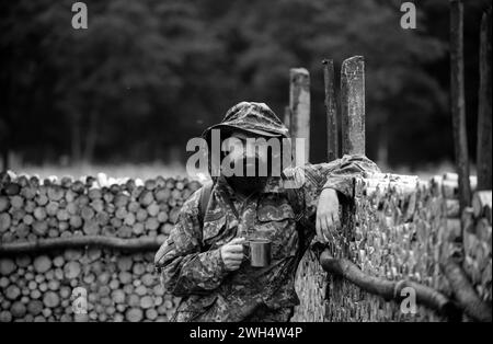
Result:
[[[296,168],[305,172],[305,183],[296,191],[301,216],[312,221],[322,188],[337,191],[340,199],[352,199],[354,177],[379,171],[363,156],[344,156],[330,163]],[[280,177],[270,177],[263,191],[240,202],[225,179],[213,187],[203,227],[199,220],[202,188],[183,205],[179,220],[161,248],[156,262],[165,289],[181,302],[174,321],[288,321],[293,307],[299,303],[295,274],[302,253],[314,237],[314,227],[303,229],[303,242],[296,229],[297,219]],[[225,199],[229,197],[238,217]],[[293,202],[293,200],[291,200]],[[251,267],[244,261],[229,272],[220,246],[237,237],[268,238],[272,263]]]

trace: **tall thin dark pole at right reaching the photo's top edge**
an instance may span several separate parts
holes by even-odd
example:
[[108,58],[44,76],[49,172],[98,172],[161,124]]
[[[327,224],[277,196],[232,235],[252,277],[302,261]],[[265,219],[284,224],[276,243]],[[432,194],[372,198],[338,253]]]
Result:
[[454,128],[454,147],[459,174],[459,202],[462,210],[471,204],[469,157],[466,130],[466,100],[463,85],[463,4],[450,1],[450,106]]

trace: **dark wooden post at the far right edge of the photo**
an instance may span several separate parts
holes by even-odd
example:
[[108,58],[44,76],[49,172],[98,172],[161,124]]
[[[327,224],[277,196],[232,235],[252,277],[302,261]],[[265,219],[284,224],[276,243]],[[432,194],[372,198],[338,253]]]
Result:
[[478,190],[492,188],[491,173],[491,8],[483,14],[480,35],[480,91],[478,107]]

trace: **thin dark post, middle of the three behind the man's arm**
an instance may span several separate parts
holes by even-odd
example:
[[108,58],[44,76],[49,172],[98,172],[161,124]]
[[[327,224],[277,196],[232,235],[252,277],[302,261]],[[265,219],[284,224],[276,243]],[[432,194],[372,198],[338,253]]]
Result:
[[335,100],[334,61],[324,59],[323,83],[325,87],[325,112],[328,135],[328,161],[339,158],[337,106]]

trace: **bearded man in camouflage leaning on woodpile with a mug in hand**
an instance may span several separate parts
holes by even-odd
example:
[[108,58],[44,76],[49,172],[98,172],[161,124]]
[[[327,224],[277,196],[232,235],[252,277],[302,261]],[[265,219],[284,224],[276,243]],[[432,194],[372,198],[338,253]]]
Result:
[[[231,107],[220,124],[206,129],[207,141],[213,129],[221,139],[234,138],[233,146],[252,138],[288,137],[263,103]],[[248,151],[234,149],[228,158],[244,165],[252,160],[272,163],[271,154]],[[225,175],[221,170],[206,209],[200,206],[203,187],[185,202],[156,255],[164,287],[182,297],[173,321],[289,321],[299,303],[295,274],[302,254],[316,234],[319,241],[330,240],[339,226],[340,200],[353,197],[354,176],[376,171],[378,167],[362,156],[288,168],[282,175],[273,175],[272,169],[266,176]],[[299,173],[305,175],[302,185],[286,188],[288,176]],[[299,226],[313,223],[314,217],[316,226]],[[245,241],[257,238],[272,242],[265,267],[253,267],[245,259]]]

